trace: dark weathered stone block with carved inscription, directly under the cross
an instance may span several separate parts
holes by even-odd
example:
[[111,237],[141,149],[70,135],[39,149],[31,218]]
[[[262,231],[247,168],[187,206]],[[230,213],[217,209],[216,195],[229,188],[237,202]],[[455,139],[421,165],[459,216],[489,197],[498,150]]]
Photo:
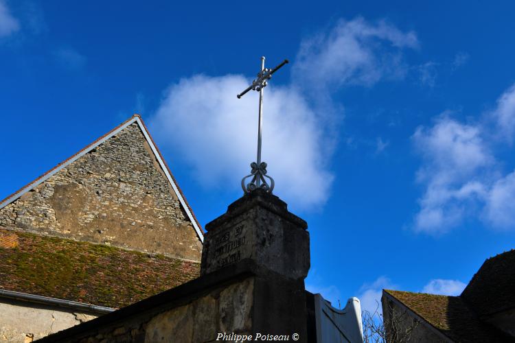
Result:
[[290,279],[304,279],[310,268],[307,227],[276,196],[261,189],[246,194],[205,226],[201,275],[252,259]]

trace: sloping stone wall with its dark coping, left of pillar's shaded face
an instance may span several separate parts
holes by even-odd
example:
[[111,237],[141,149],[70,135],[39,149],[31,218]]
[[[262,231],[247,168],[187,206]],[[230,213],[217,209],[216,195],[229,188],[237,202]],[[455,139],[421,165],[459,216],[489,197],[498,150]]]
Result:
[[207,343],[216,342],[220,332],[249,334],[256,283],[251,270],[246,266],[190,281],[42,342]]

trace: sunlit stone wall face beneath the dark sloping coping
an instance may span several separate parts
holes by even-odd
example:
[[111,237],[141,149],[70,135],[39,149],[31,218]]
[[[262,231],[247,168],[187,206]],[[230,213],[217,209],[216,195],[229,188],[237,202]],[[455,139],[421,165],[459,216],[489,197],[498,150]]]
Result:
[[[216,342],[218,333],[251,334],[252,277],[198,294],[172,308],[141,311],[106,326],[93,326],[86,335],[52,342]],[[113,313],[114,314],[114,313]],[[93,324],[93,322],[91,323]]]

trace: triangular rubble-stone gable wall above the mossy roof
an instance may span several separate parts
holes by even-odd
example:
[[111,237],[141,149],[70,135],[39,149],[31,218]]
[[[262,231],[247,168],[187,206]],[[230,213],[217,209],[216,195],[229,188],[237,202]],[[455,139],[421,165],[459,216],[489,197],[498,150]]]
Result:
[[137,123],[0,209],[0,226],[201,259],[201,241]]

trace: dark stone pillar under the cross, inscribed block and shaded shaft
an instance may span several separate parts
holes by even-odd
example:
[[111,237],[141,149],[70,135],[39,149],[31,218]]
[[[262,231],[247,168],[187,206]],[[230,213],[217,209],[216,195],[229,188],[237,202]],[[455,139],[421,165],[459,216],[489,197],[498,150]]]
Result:
[[[201,276],[255,264],[249,334],[299,335],[306,342],[304,279],[310,268],[308,224],[285,202],[258,189],[205,226]],[[237,303],[234,303],[237,306]],[[227,309],[231,311],[231,309]]]

